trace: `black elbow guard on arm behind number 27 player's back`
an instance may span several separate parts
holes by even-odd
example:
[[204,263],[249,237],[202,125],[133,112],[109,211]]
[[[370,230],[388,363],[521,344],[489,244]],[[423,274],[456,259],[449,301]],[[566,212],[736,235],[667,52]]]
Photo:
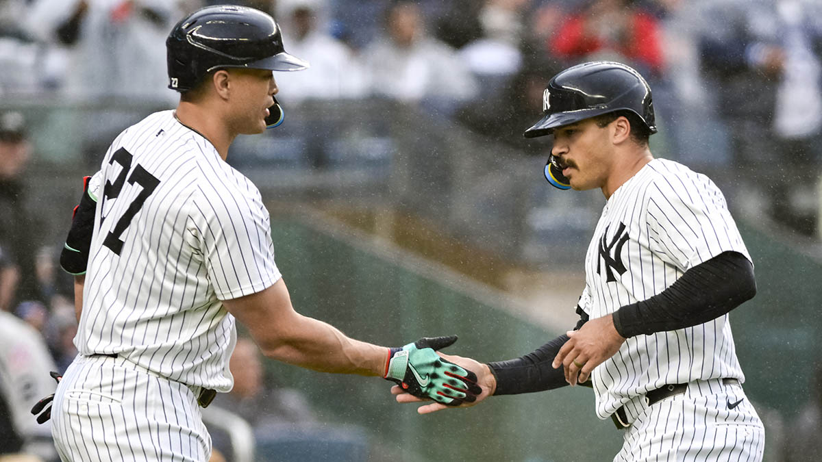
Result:
[[60,252],[60,266],[72,275],[84,275],[89,262],[91,236],[95,227],[95,210],[100,194],[102,172],[83,178],[83,195],[74,207],[72,228],[68,230],[66,243]]

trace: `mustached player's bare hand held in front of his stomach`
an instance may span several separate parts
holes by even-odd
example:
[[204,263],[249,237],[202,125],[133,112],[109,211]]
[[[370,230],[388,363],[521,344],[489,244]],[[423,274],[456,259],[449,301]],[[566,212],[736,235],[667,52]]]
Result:
[[580,330],[569,330],[570,340],[556,353],[552,366],[565,369],[566,381],[575,386],[591,377],[594,367],[619,351],[625,337],[614,327],[612,315],[585,322]]

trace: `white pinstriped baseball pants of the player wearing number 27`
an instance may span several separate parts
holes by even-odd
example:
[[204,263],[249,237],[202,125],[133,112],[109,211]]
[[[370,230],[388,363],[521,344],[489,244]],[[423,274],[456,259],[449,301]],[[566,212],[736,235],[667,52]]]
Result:
[[124,358],[77,356],[54,395],[52,422],[64,461],[210,457],[194,392]]

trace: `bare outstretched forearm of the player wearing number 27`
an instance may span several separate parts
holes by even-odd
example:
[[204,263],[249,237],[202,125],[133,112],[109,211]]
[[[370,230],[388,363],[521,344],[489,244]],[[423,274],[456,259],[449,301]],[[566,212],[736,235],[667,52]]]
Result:
[[353,340],[323,321],[295,314],[289,334],[261,342],[267,357],[320,372],[385,374],[386,347]]

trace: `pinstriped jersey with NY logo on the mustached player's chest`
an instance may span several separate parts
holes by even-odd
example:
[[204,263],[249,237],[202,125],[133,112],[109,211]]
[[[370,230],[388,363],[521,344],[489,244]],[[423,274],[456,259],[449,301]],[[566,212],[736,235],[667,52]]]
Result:
[[[718,187],[684,165],[653,159],[603,208],[585,257],[580,307],[592,319],[606,316],[662,292],[686,270],[727,251],[750,260]],[[592,377],[600,418],[665,384],[744,381],[727,315],[631,337]]]

